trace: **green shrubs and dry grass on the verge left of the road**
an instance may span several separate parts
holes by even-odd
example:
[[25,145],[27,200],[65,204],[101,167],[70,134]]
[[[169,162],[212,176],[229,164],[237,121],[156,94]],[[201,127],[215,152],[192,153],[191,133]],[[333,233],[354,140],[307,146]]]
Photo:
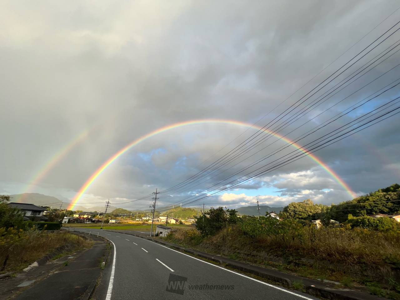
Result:
[[60,229],[60,223],[24,220],[18,209],[8,205],[9,200],[0,196],[0,273],[20,271],[55,250],[68,253],[92,246],[75,234],[46,232]]

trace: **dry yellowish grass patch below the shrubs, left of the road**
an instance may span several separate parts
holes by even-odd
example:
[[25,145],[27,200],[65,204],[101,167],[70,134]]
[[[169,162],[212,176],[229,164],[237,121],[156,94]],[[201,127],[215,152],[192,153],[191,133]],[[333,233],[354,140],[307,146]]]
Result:
[[91,247],[92,242],[68,232],[46,233],[0,228],[0,270],[22,270],[61,246],[65,246],[64,252],[70,252]]

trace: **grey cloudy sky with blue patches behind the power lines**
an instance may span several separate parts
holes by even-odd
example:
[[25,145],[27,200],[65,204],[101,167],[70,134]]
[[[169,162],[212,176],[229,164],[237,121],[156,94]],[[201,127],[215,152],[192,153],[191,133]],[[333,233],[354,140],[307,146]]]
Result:
[[[151,196],[133,200],[190,178],[257,134],[257,126],[270,124],[266,128],[274,130],[282,124],[274,120],[396,24],[398,8],[398,1],[390,0],[2,1],[0,194],[36,192],[72,202],[88,178],[132,141],[179,122],[229,120],[180,126],[143,140],[114,160],[78,201],[91,207],[110,198],[114,206],[146,210]],[[400,39],[399,32],[303,106],[362,70]],[[398,83],[396,50],[279,134],[294,140]],[[398,97],[399,91],[400,85],[394,86],[298,144],[344,126]],[[392,109],[398,106],[391,104]],[[399,183],[399,116],[315,155],[353,194]],[[158,205],[196,195],[209,196],[188,206],[204,202],[236,208],[255,205],[257,199],[282,206],[308,198],[331,204],[352,198],[309,156],[240,186],[226,186],[244,178],[247,172],[240,170],[285,144],[268,136],[202,180],[161,193]],[[284,148],[248,171],[294,150]],[[213,194],[214,184],[226,190]]]

